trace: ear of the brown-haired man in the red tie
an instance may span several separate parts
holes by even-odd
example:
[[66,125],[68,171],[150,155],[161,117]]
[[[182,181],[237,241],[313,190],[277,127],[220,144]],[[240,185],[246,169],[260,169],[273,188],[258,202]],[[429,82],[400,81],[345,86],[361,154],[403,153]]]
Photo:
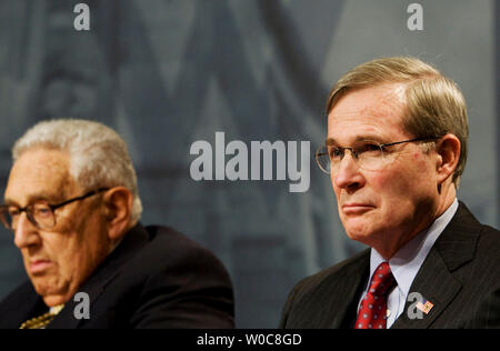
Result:
[[441,187],[447,179],[453,176],[460,159],[460,140],[454,134],[448,133],[437,142],[438,187]]

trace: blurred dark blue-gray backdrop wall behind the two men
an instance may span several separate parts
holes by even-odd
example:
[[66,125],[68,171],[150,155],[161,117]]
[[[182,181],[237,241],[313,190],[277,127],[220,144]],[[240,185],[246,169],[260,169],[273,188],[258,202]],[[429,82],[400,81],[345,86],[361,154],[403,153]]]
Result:
[[[273,328],[301,278],[362,247],[346,239],[329,178],[311,157],[311,187],[194,182],[197,140],[324,139],[323,106],[348,69],[377,57],[429,61],[464,92],[469,163],[459,198],[499,222],[499,4],[492,0],[0,0],[0,182],[10,148],[37,121],[107,123],[127,140],[142,222],[172,225],[213,250],[236,287],[239,328]],[[423,30],[407,28],[411,2]],[[497,27],[496,24],[497,23]],[[497,37],[496,37],[497,33]],[[0,230],[0,298],[24,279]]]

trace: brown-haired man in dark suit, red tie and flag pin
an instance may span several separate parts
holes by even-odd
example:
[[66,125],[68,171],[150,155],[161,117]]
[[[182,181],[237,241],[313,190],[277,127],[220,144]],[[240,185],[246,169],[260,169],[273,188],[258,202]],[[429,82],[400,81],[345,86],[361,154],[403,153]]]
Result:
[[463,97],[414,58],[363,63],[327,103],[316,158],[348,237],[370,249],[299,282],[281,328],[500,328],[500,234],[456,191]]

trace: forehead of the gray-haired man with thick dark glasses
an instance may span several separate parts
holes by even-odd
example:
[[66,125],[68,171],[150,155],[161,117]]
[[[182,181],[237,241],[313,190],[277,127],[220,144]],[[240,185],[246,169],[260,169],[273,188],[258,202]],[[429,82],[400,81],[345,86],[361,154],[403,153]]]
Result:
[[10,171],[6,203],[27,205],[37,200],[63,200],[76,187],[68,153],[33,149],[21,154]]

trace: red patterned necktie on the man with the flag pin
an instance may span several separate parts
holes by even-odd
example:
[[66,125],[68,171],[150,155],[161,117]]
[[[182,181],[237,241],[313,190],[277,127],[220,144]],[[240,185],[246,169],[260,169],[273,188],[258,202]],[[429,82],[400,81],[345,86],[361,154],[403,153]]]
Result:
[[388,262],[380,263],[371,278],[370,288],[361,302],[356,329],[386,329],[387,297],[396,284]]

